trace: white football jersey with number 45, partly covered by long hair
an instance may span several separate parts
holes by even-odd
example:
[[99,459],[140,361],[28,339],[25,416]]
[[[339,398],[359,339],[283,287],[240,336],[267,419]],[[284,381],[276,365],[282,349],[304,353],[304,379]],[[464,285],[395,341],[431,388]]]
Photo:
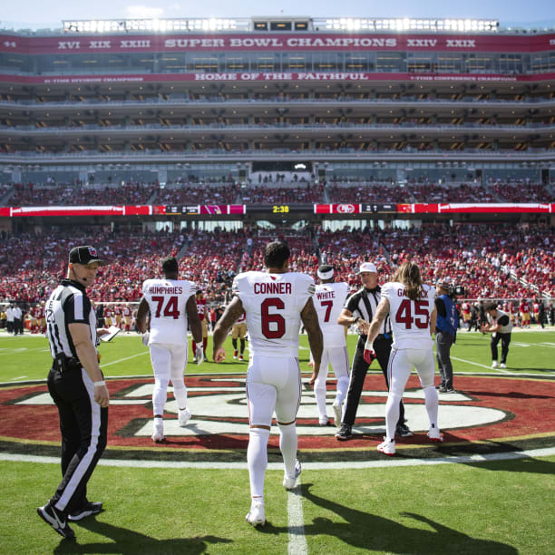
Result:
[[433,347],[430,320],[435,308],[435,289],[423,286],[422,299],[406,297],[404,285],[389,282],[382,287],[382,297],[389,301],[389,318],[393,328],[395,349],[426,349]]

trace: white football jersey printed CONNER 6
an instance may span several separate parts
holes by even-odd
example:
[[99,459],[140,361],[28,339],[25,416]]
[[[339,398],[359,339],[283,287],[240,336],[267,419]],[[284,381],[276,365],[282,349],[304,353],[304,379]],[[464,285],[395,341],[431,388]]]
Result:
[[245,272],[233,280],[233,293],[247,315],[252,355],[298,356],[300,313],[314,295],[312,277]]

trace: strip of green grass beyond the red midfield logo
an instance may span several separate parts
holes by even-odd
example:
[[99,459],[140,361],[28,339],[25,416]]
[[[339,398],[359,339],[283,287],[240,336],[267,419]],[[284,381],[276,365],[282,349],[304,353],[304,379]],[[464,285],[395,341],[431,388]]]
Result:
[[[355,352],[356,336],[347,337],[347,346],[352,356]],[[211,354],[212,339],[209,337],[208,355]],[[299,360],[301,370],[308,372],[309,350],[307,336],[300,336],[301,350]],[[245,373],[246,363],[233,360],[233,346],[228,337],[225,343],[227,360],[216,365],[205,362],[198,366],[190,362],[188,374],[209,373]],[[102,343],[99,347],[102,355],[102,371],[106,377],[125,375],[151,375],[151,362],[148,348],[143,346],[139,336],[116,336],[110,343]],[[248,351],[245,353],[248,359]],[[454,372],[492,372],[490,368],[490,336],[479,333],[458,334],[457,342],[451,350]],[[501,355],[501,346],[500,346]],[[512,334],[507,370],[522,374],[546,375],[555,373],[555,331],[514,332]],[[192,361],[190,352],[189,360]],[[0,381],[27,381],[45,379],[52,358],[48,350],[48,342],[43,336],[0,336],[0,363],[2,371]],[[379,371],[377,363],[371,370]]]

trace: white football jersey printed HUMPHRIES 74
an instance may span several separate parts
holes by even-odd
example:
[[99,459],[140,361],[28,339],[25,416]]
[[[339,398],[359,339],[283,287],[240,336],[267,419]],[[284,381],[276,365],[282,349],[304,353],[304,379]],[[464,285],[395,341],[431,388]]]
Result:
[[185,307],[195,291],[195,284],[184,279],[147,279],[142,284],[142,295],[151,310],[149,345],[187,345],[188,318]]

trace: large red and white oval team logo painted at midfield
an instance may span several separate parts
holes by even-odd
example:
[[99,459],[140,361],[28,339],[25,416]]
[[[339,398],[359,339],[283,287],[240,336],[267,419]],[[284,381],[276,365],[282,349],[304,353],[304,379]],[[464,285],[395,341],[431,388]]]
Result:
[[[168,443],[151,441],[152,380],[113,380],[108,449],[112,456],[180,461],[244,460],[248,444],[248,406],[244,376],[186,376],[190,423],[181,428],[177,404],[166,404],[164,435]],[[314,392],[304,386],[297,414],[299,450],[304,461],[369,460],[380,456],[375,445],[385,431],[384,378],[369,375],[357,411],[354,438],[338,442],[336,427],[319,426]],[[542,379],[457,376],[463,393],[440,394],[439,424],[444,443],[429,443],[424,394],[412,376],[404,394],[407,424],[414,437],[400,440],[398,454],[444,456],[484,453],[488,449],[513,451],[555,445],[555,382]],[[328,415],[333,414],[335,381],[328,384]],[[538,419],[538,415],[541,418]],[[45,385],[0,390],[0,436],[3,451],[58,454],[58,414]],[[494,442],[492,442],[494,440]],[[270,459],[277,457],[278,433],[273,426]],[[276,459],[277,460],[277,459]]]

